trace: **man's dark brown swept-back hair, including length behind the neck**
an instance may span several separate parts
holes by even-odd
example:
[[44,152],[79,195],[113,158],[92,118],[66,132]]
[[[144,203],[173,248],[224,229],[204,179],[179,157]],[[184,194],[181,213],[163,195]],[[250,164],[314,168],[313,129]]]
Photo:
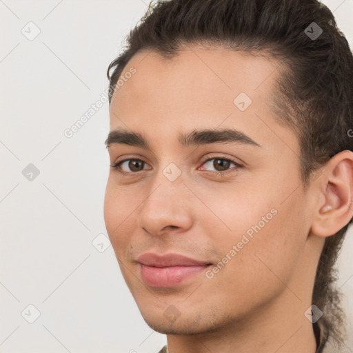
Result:
[[[314,27],[313,27],[314,26]],[[322,33],[321,33],[322,30]],[[313,33],[316,34],[313,37]],[[321,34],[320,34],[321,33]],[[319,35],[319,37],[317,37]],[[316,38],[317,37],[317,38]],[[171,0],[150,6],[110,63],[109,103],[128,61],[141,50],[165,58],[188,44],[265,55],[279,63],[271,108],[299,139],[304,188],[335,154],[353,150],[353,57],[332,12],[316,0]],[[110,70],[112,74],[110,75]],[[336,288],[337,256],[348,225],[325,239],[312,304],[326,342],[341,343],[345,315]]]

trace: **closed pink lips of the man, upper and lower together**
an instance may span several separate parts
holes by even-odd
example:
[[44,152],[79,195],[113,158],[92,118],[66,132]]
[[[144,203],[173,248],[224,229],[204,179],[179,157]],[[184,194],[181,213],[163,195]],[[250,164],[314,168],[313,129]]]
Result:
[[148,252],[138,257],[141,276],[147,285],[166,288],[178,285],[205,270],[210,263],[179,254],[157,255]]

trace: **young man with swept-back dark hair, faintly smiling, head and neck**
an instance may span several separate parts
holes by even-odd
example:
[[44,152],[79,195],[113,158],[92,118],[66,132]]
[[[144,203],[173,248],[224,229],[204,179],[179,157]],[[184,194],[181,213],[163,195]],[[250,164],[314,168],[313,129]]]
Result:
[[105,224],[161,352],[340,343],[353,57],[330,10],[159,2],[108,78]]

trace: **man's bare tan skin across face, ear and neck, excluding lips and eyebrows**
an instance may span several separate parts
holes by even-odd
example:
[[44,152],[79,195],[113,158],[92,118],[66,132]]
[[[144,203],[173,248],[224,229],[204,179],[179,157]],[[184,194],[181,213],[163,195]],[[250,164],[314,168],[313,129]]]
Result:
[[[143,319],[167,334],[171,353],[314,353],[314,274],[326,236],[352,217],[352,152],[336,154],[304,191],[299,143],[274,119],[268,101],[278,63],[215,48],[184,48],[172,60],[143,51],[137,72],[112,97],[110,130],[143,134],[153,150],[110,145],[104,217],[121,272]],[[245,92],[252,104],[233,100]],[[261,147],[212,143],[184,148],[179,132],[236,128]],[[207,159],[214,158],[206,163]],[[218,159],[241,165],[216,177]],[[168,180],[163,170],[181,171]],[[227,170],[227,167],[223,168]],[[134,174],[135,173],[135,174]],[[223,172],[224,173],[224,172]],[[332,210],[323,212],[326,205]],[[351,206],[351,207],[350,207]],[[137,256],[177,253],[217,264],[262,217],[270,221],[213,278],[204,272],[173,288],[144,283]],[[249,237],[248,237],[249,238]],[[175,321],[165,316],[174,305]]]

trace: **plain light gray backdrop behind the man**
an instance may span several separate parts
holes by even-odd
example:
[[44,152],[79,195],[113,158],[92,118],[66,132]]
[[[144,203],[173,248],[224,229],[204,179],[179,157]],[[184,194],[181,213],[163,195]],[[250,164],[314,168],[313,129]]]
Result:
[[[353,0],[323,2],[353,48]],[[147,8],[0,0],[0,352],[154,353],[166,343],[143,321],[107,239],[108,103],[63,134],[108,87],[108,65]],[[30,21],[41,31],[32,41],[21,32],[35,33]],[[22,174],[30,163],[40,172],[32,181]],[[99,252],[92,242],[102,240],[99,250],[110,246]],[[350,230],[339,259],[350,321],[352,249]]]

